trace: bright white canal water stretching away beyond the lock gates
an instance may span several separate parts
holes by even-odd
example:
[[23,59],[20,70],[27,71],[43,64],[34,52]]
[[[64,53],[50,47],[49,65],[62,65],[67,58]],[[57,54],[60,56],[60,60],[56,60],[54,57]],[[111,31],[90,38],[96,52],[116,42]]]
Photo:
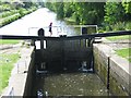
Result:
[[[66,22],[57,20],[57,14],[46,8],[40,8],[37,11],[25,15],[24,17],[8,24],[0,28],[0,35],[23,35],[37,36],[39,28],[45,29],[45,36],[49,36],[48,26],[52,22],[52,36],[58,36],[59,27],[68,27],[67,35],[75,35],[74,28],[67,25]],[[63,30],[66,32],[66,30]]]

